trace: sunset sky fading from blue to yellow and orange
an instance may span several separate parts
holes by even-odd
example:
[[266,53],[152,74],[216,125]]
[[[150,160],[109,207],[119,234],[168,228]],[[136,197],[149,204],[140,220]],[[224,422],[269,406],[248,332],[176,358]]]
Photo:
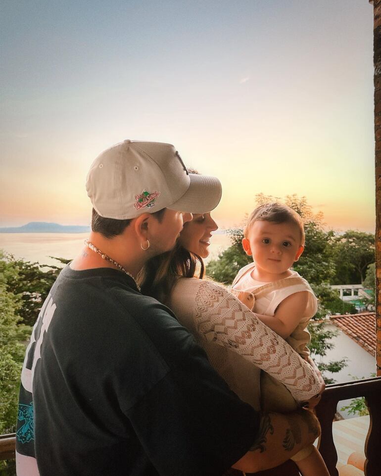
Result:
[[0,226],[87,225],[87,170],[124,139],[216,175],[221,228],[255,194],[375,226],[368,0],[3,0]]

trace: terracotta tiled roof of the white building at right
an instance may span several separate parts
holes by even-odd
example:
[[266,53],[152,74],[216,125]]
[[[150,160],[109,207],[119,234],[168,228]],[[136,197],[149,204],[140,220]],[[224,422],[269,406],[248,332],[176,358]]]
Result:
[[376,355],[376,313],[331,316],[331,321],[371,355]]

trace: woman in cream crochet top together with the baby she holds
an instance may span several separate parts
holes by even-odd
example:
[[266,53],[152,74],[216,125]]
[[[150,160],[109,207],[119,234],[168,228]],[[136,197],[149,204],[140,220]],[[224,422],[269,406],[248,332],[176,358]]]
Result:
[[[311,378],[318,370],[309,356],[306,329],[317,299],[290,269],[304,249],[301,218],[278,203],[251,213],[242,244],[253,263],[238,272],[230,290],[205,279],[202,258],[209,255],[217,228],[210,213],[193,214],[176,247],[143,268],[143,293],[174,311],[241,400],[266,412],[295,411],[320,392]],[[319,398],[310,400],[310,408]],[[292,446],[295,437],[285,445]],[[264,450],[265,441],[258,448]],[[292,459],[303,476],[329,475],[313,445]]]

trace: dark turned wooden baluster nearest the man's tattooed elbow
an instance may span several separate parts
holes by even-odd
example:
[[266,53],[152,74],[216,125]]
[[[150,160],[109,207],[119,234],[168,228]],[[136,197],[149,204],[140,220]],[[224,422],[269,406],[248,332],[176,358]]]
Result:
[[337,399],[329,398],[323,393],[322,401],[316,407],[316,416],[322,428],[319,438],[319,451],[322,455],[331,476],[338,476],[336,469],[337,452],[333,442],[332,423],[337,408]]

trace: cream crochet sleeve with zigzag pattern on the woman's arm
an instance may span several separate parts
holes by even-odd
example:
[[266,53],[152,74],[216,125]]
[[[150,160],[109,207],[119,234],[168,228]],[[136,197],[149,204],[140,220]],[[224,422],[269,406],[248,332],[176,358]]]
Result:
[[223,286],[200,280],[195,326],[209,342],[227,346],[281,381],[297,401],[320,391],[313,368]]

